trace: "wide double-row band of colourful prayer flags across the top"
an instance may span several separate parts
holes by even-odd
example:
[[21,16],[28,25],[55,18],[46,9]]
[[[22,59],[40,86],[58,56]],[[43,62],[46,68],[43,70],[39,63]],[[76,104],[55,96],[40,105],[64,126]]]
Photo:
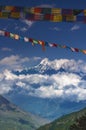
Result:
[[86,23],[85,9],[0,6],[0,18]]

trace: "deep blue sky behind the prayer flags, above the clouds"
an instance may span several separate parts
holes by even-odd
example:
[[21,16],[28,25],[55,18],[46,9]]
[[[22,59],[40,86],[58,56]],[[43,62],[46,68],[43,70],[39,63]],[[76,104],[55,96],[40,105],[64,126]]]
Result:
[[[81,0],[21,0],[21,2],[17,0],[1,0],[0,5],[85,9],[86,2]],[[31,22],[26,20],[0,19],[0,29],[38,40],[86,49],[86,24],[82,23]],[[5,37],[0,37],[0,49],[0,58],[10,55],[20,55],[22,57],[36,56],[42,58],[48,57],[49,59],[68,58],[85,60],[86,57],[86,55],[82,53],[73,53],[60,48],[48,47],[46,51],[43,52],[38,45],[33,47],[31,43],[27,44],[23,41],[15,41]]]

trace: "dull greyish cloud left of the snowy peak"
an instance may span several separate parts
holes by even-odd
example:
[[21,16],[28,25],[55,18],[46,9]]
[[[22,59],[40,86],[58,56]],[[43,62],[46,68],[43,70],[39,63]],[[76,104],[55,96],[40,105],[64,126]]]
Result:
[[19,55],[10,55],[0,59],[0,70],[22,70],[30,64],[36,64],[41,60],[41,57],[21,57]]

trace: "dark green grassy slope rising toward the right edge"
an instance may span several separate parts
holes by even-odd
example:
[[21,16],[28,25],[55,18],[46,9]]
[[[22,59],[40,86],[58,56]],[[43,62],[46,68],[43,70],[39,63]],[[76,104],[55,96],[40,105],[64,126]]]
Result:
[[63,116],[50,124],[38,128],[37,130],[69,130],[70,125],[72,125],[77,118],[81,117],[85,113],[86,108],[78,112],[74,112],[66,116]]

